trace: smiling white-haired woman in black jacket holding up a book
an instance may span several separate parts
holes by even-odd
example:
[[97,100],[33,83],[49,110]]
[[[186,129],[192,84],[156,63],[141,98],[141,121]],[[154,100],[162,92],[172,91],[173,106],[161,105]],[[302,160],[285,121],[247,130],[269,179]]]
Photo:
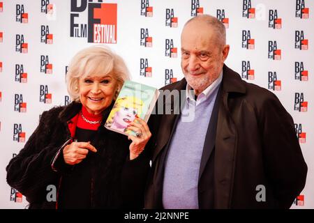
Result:
[[8,184],[27,197],[29,208],[142,208],[147,123],[129,124],[139,137],[103,126],[128,79],[124,61],[106,47],[89,47],[74,56],[66,79],[73,102],[43,112],[6,168]]

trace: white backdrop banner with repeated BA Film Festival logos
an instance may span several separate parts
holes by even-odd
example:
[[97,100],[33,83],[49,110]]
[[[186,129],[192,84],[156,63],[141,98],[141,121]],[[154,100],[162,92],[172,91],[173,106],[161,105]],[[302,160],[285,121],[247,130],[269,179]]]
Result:
[[108,45],[135,82],[160,88],[184,77],[180,33],[199,14],[225,24],[227,66],[275,93],[294,118],[308,177],[292,208],[314,208],[313,9],[311,0],[0,0],[0,208],[27,206],[6,183],[6,165],[43,111],[70,102],[76,52]]

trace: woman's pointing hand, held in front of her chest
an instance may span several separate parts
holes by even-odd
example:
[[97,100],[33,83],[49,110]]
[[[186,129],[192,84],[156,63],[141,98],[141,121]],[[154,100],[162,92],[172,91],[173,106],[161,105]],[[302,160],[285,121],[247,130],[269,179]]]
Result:
[[66,164],[78,164],[86,158],[89,151],[92,151],[94,153],[97,152],[96,148],[90,144],[90,141],[73,141],[73,143],[63,148],[63,158]]

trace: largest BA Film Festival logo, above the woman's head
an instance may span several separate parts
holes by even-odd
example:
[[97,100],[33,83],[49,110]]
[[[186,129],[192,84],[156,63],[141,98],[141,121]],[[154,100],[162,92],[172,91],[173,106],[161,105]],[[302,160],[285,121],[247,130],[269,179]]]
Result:
[[[87,6],[88,24],[77,23]],[[87,38],[88,43],[117,43],[117,3],[93,3],[89,0],[87,4],[87,0],[72,0],[70,37]]]

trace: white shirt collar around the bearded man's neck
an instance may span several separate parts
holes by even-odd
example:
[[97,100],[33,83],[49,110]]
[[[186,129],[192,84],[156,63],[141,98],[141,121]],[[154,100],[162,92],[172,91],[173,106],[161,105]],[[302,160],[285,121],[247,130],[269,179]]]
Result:
[[206,100],[211,93],[216,89],[217,86],[220,85],[221,81],[223,80],[223,71],[221,70],[219,77],[207,87],[200,95],[197,96],[197,100],[194,99],[195,92],[192,90],[190,85],[186,84],[186,100],[187,102],[193,103],[193,105],[197,106]]

